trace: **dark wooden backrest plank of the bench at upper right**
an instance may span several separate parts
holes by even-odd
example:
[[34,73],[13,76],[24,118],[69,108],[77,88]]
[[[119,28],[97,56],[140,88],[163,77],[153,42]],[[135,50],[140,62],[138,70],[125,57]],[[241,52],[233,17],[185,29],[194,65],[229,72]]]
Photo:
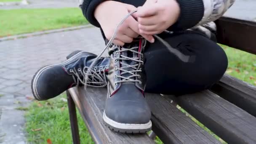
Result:
[[218,43],[256,54],[256,22],[228,17],[215,22]]

